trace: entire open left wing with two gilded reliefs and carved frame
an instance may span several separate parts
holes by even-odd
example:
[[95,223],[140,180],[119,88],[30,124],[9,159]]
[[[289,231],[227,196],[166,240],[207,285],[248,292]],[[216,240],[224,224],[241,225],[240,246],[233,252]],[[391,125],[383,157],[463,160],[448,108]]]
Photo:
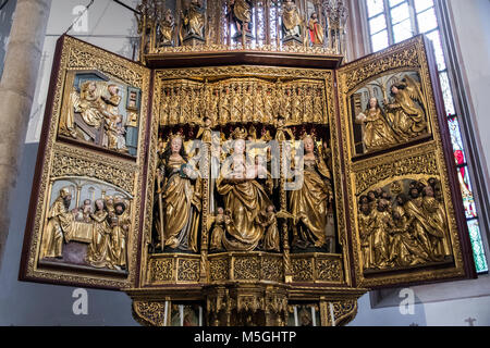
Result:
[[149,70],[57,46],[21,277],[105,288],[137,275]]

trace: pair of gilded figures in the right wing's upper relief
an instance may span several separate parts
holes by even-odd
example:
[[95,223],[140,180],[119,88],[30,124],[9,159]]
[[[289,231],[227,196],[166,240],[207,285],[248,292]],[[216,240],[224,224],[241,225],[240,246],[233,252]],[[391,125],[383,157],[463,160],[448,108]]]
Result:
[[385,100],[384,110],[377,98],[370,98],[366,111],[356,117],[356,123],[364,125],[363,144],[367,152],[406,142],[428,132],[418,83],[405,76],[402,83],[393,84],[391,96],[393,101]]

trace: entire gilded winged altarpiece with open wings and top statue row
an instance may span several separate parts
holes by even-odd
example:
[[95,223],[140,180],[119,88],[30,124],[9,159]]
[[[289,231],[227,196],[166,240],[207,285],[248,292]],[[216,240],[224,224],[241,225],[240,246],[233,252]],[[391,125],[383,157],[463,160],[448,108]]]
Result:
[[343,63],[341,0],[145,0],[139,61],[57,46],[21,277],[145,325],[342,325],[475,276],[431,45]]

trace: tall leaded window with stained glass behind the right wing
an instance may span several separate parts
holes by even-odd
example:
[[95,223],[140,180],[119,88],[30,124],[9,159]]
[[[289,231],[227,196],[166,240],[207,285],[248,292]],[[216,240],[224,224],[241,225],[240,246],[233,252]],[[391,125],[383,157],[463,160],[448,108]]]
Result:
[[461,136],[458,120],[455,116],[451,84],[448,77],[444,51],[442,49],[439,22],[433,0],[365,0],[367,8],[371,51],[377,52],[390,45],[401,42],[417,34],[425,34],[433,45],[438,64],[439,78],[444,98],[445,112],[453,142],[454,160],[463,196],[463,204],[468,223],[469,237],[477,272],[487,272],[485,256],[478,225],[478,213],[469,178],[466,152]]

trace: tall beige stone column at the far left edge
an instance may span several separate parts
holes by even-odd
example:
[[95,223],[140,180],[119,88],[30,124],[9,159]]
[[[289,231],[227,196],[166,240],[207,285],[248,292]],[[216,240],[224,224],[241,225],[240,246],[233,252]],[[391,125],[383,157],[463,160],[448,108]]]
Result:
[[[0,82],[0,269],[51,0],[17,0]],[[23,233],[23,231],[15,231]]]

